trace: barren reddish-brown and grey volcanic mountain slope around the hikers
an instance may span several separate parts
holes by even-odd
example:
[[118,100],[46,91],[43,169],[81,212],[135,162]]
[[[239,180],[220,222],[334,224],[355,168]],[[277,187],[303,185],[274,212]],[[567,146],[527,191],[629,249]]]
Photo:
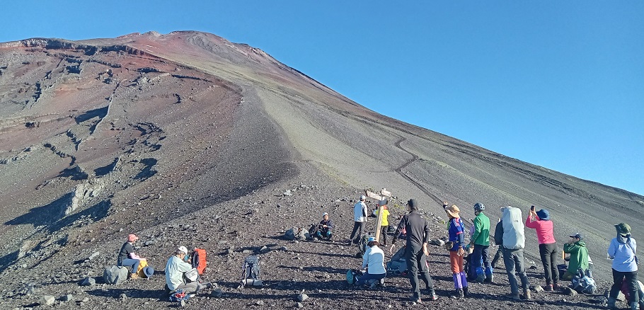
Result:
[[[437,214],[433,238],[445,234],[443,200],[465,219],[474,202],[491,219],[505,205],[545,207],[560,243],[573,231],[587,236],[606,279],[612,225],[643,232],[640,195],[379,115],[261,50],[208,33],[1,43],[0,115],[0,289],[14,305],[62,291],[93,305],[120,292],[149,298],[162,279],[76,292],[76,281],[113,263],[129,232],[142,236],[138,251],[157,269],[179,243],[222,253],[209,259],[212,280],[231,287],[222,305],[268,298],[289,306],[287,291],[313,288],[340,298],[341,271],[359,264],[354,249],[279,236],[328,211],[337,238],[347,238],[352,200],[366,188],[393,191],[396,215],[408,198],[419,200]],[[529,260],[539,262],[534,232],[527,236]],[[275,282],[267,294],[236,291],[243,251],[264,245],[263,269]],[[447,265],[436,268],[447,278]],[[406,306],[397,299],[406,284],[397,283],[386,303]],[[26,294],[31,287],[37,294]],[[159,306],[156,297],[139,306]],[[560,303],[553,298],[544,300]]]

